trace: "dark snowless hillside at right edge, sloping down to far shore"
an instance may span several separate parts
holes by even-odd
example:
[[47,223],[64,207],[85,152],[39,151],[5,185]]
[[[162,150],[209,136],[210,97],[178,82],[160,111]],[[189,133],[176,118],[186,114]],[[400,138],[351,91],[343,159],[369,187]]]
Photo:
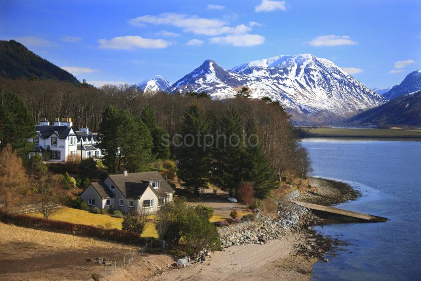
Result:
[[351,117],[346,123],[368,125],[421,126],[421,91],[400,96],[387,104]]

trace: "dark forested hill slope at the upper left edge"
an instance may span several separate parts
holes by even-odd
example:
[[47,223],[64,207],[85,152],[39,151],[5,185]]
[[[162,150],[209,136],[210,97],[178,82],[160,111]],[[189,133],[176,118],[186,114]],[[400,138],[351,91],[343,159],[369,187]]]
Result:
[[47,59],[35,55],[14,40],[0,41],[0,77],[9,79],[37,77],[80,85],[80,82],[72,74]]

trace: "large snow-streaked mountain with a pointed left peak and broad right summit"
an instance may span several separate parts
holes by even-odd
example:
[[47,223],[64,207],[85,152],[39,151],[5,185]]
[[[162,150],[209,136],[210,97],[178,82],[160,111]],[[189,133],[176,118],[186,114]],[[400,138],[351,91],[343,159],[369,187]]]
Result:
[[[295,114],[326,119],[349,117],[386,102],[333,62],[310,54],[274,56],[224,70],[213,60],[175,82],[168,91],[206,91],[231,98],[242,87],[253,98],[269,97]],[[324,119],[324,120],[323,120]]]

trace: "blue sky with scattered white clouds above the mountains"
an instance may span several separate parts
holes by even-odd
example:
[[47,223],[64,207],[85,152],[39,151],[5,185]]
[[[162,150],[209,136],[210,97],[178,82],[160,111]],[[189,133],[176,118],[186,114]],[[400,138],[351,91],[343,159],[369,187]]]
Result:
[[310,53],[381,88],[421,69],[420,15],[420,0],[0,0],[0,39],[95,86]]

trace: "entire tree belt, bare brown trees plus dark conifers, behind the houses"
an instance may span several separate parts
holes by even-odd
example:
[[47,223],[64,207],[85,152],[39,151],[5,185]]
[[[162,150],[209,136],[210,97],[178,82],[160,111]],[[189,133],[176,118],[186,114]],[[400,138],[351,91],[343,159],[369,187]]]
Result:
[[[179,162],[180,177],[196,191],[209,180],[235,193],[244,180],[254,185],[259,182],[255,191],[260,197],[286,171],[300,176],[310,167],[289,115],[268,98],[250,99],[247,89],[237,98],[216,101],[202,93],[144,94],[128,85],[97,89],[56,80],[0,79],[0,86],[21,98],[34,123],[42,117],[72,117],[75,128],[88,125],[99,132],[111,172],[142,170],[149,159],[172,158]],[[192,132],[257,134],[259,143],[249,147],[240,140],[235,148],[214,148],[205,154],[200,147],[186,149],[177,142],[171,142],[169,148],[160,145],[163,135],[173,139]],[[117,148],[121,149],[118,155]],[[190,177],[183,174],[189,169]],[[261,186],[265,187],[259,190]]]

